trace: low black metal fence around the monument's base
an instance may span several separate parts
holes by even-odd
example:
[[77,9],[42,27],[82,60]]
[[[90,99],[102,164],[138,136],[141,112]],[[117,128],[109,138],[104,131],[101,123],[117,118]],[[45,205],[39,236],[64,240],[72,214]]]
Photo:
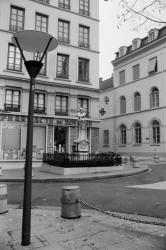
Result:
[[97,167],[97,166],[119,166],[121,165],[121,156],[113,152],[98,154],[68,154],[45,153],[43,162],[53,166],[71,168],[71,167]]

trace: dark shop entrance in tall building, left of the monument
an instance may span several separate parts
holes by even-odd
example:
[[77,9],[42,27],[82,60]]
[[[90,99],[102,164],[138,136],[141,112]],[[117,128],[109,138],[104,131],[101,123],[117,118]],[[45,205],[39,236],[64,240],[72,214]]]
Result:
[[55,126],[54,128],[54,151],[66,152],[67,128]]

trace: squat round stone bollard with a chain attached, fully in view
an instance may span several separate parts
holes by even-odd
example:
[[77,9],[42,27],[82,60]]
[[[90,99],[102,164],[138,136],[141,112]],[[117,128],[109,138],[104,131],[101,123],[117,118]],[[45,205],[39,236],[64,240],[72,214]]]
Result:
[[62,187],[61,217],[66,219],[79,218],[81,216],[80,188],[78,186]]

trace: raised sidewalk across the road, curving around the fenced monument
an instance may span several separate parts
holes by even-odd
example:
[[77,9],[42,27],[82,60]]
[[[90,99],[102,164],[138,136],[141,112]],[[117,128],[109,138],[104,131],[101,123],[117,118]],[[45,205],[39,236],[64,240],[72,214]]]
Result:
[[[98,180],[106,178],[115,178],[122,176],[130,176],[141,174],[148,171],[147,165],[140,165],[137,168],[132,166],[123,166],[122,170],[111,170],[110,172],[74,174],[74,175],[57,175],[52,173],[41,172],[40,168],[33,169],[32,182],[65,182],[65,181],[81,181],[81,180]],[[0,182],[23,182],[24,169],[2,170]]]

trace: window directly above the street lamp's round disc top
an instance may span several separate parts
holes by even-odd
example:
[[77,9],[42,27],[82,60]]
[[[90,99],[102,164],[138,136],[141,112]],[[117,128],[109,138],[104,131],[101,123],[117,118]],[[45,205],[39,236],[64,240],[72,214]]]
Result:
[[35,30],[48,32],[48,16],[36,13]]

